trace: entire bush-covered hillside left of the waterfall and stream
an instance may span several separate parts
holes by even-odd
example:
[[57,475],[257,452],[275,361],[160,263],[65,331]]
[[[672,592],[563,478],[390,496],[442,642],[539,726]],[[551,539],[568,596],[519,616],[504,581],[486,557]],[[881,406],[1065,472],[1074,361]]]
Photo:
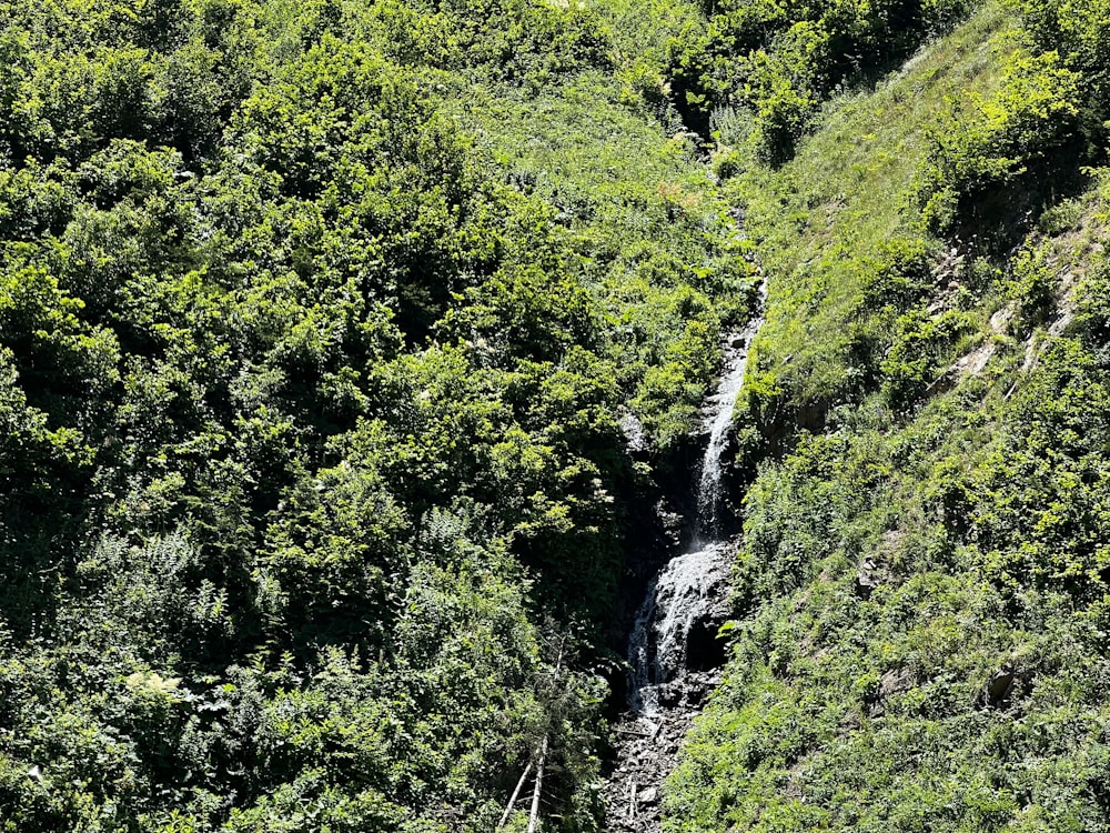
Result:
[[0,3],[0,830],[484,833],[544,739],[596,830],[617,416],[751,283],[622,13]]

